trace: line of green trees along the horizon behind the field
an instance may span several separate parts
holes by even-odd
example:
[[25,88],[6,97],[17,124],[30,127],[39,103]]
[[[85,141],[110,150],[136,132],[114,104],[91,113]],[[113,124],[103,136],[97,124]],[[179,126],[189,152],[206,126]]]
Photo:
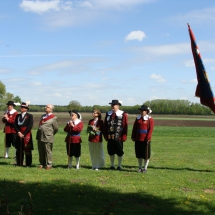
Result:
[[[6,103],[8,101],[14,101],[21,103],[19,96],[6,92],[5,85],[0,81],[0,110],[6,109]],[[152,101],[145,101],[143,104],[147,105],[152,109],[153,114],[173,114],[173,115],[211,115],[212,112],[208,107],[205,107],[199,103],[192,103],[188,100],[168,100],[168,99],[156,99]],[[142,104],[134,106],[122,106],[122,110],[129,114],[139,114],[138,108]],[[44,105],[30,105],[31,112],[44,112]],[[67,112],[69,110],[78,110],[80,112],[90,113],[94,109],[99,109],[102,113],[110,110],[110,105],[93,105],[93,106],[82,106],[80,102],[72,100],[68,105],[55,105],[55,112]]]

